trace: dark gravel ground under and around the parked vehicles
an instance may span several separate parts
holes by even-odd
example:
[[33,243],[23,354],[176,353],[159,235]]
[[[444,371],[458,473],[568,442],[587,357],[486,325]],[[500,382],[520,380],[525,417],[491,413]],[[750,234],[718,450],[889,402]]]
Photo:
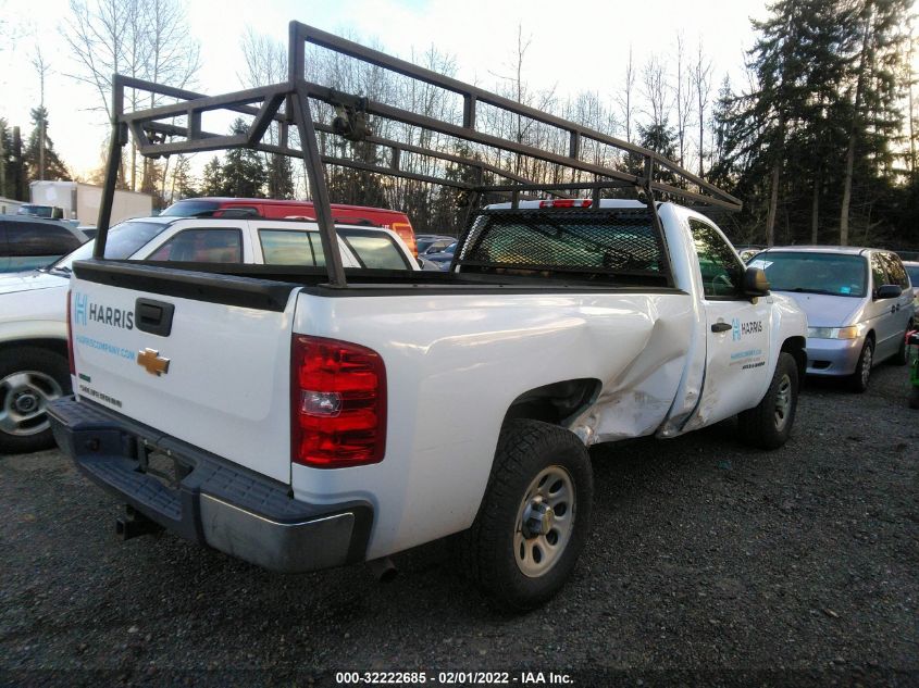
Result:
[[489,610],[446,542],[397,556],[388,584],[363,566],[282,576],[172,536],[119,542],[119,505],[59,452],[4,456],[0,685],[468,684],[438,676],[462,670],[510,685],[916,686],[907,389],[887,365],[864,396],[808,383],[774,452],[731,424],[595,449],[574,578],[517,617]]

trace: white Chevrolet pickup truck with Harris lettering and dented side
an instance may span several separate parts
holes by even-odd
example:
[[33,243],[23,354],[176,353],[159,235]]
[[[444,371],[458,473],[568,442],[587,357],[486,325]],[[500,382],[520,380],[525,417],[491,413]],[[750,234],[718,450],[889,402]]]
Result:
[[[303,99],[332,96],[310,89],[294,78],[265,99],[300,99],[328,257],[335,234]],[[189,97],[178,109],[213,105]],[[136,121],[153,114],[171,111]],[[191,133],[182,143],[199,145]],[[302,572],[385,566],[462,534],[467,570],[493,600],[539,604],[589,533],[587,447],[737,415],[743,439],[775,448],[794,423],[803,313],[770,295],[705,215],[650,201],[661,187],[649,177],[644,201],[598,198],[607,180],[588,186],[593,199],[511,191],[472,213],[445,273],[76,262],[75,396],[51,406],[55,438],[129,506],[125,537],[166,528]]]

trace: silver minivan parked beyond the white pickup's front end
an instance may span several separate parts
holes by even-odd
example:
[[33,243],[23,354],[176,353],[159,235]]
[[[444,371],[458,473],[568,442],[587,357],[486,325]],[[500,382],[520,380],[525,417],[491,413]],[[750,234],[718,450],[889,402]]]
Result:
[[807,313],[807,373],[848,377],[865,391],[871,367],[906,363],[915,312],[909,277],[892,251],[852,247],[774,247],[752,262],[773,292]]

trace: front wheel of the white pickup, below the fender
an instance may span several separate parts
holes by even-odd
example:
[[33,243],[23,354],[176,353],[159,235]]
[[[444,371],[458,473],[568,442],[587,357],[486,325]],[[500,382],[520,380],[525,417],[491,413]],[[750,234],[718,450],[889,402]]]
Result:
[[779,354],[772,381],[762,400],[737,415],[741,438],[756,447],[778,449],[788,440],[798,399],[798,367],[794,356]]

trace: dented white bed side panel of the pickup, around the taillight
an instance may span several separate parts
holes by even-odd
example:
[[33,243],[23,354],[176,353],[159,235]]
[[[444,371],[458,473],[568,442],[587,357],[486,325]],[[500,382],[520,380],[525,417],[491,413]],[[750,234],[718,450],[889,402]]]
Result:
[[522,393],[597,379],[572,429],[585,443],[653,434],[667,416],[694,323],[666,293],[299,296],[294,330],[353,340],[386,365],[386,455],[374,465],[293,466],[297,499],[373,505],[369,558],[472,523],[505,415]]

